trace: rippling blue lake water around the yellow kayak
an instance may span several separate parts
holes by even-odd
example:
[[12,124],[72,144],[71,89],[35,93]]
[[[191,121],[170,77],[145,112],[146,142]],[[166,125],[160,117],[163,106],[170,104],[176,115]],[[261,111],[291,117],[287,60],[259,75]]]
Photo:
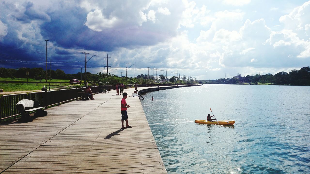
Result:
[[[310,173],[310,86],[203,85],[144,96],[168,173]],[[196,124],[209,108],[236,123]]]

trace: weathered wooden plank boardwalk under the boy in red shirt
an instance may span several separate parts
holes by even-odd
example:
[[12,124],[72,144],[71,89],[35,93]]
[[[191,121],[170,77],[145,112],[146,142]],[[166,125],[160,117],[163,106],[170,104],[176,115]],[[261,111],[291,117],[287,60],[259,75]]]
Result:
[[33,122],[0,125],[0,173],[167,173],[133,91],[125,89],[133,128],[120,129],[115,90],[49,108]]

